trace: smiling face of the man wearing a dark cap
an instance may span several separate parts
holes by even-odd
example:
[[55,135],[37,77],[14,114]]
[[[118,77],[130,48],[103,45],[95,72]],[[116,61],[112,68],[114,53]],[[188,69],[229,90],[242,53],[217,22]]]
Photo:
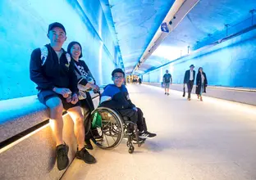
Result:
[[55,27],[49,31],[48,38],[51,41],[52,47],[62,47],[66,41],[66,34],[63,29]]

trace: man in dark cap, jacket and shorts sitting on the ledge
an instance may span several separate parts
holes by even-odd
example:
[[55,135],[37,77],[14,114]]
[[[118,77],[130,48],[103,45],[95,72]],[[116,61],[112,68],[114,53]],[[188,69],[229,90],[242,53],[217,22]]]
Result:
[[62,48],[66,41],[66,29],[58,22],[48,26],[50,43],[36,48],[30,58],[30,79],[37,84],[39,101],[50,110],[50,125],[56,140],[57,168],[66,169],[69,164],[69,146],[63,141],[63,109],[74,121],[78,148],[75,157],[85,163],[96,162],[85,149],[85,127],[78,100],[75,65],[71,56]]

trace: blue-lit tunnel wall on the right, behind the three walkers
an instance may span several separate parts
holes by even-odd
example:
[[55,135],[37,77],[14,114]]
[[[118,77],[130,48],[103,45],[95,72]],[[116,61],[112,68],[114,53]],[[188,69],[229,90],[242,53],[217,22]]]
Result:
[[145,82],[161,82],[169,70],[174,83],[183,83],[185,70],[200,66],[209,85],[256,88],[256,29],[201,52],[185,56],[143,75]]

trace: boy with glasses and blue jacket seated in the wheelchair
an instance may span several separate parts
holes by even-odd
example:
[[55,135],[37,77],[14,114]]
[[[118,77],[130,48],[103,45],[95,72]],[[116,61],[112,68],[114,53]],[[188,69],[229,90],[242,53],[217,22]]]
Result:
[[114,84],[108,84],[104,88],[100,106],[117,110],[122,117],[127,117],[130,121],[137,124],[140,141],[148,137],[155,137],[157,134],[147,131],[142,111],[130,101],[129,93],[123,84],[124,80],[125,73],[123,70],[117,68],[112,71],[112,81]]

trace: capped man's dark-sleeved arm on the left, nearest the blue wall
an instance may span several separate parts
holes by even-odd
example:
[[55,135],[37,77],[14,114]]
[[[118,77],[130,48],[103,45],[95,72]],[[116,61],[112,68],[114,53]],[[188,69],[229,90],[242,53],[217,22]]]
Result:
[[53,82],[46,79],[42,74],[42,65],[40,59],[40,49],[35,49],[30,57],[30,79],[38,85],[39,88],[53,90]]

